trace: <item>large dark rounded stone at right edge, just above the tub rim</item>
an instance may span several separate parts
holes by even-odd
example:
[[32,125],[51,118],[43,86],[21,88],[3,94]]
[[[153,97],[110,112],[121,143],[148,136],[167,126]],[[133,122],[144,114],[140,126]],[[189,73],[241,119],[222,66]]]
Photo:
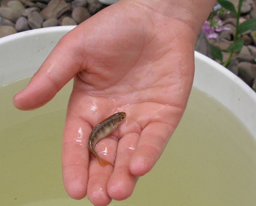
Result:
[[252,85],[256,72],[252,67],[252,63],[240,62],[238,64],[238,75],[247,83],[249,86]]

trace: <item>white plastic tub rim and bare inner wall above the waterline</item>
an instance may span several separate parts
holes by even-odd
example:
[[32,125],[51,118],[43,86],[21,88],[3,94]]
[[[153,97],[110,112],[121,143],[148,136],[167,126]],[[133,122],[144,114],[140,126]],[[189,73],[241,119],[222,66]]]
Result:
[[[0,86],[34,74],[75,26],[34,29],[0,38]],[[195,52],[193,86],[233,112],[256,138],[256,93],[239,77]]]

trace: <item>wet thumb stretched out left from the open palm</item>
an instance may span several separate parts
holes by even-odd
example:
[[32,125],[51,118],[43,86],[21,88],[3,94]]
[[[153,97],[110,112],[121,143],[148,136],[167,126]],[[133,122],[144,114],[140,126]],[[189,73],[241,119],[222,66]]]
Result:
[[76,39],[77,32],[79,28],[61,38],[27,87],[14,96],[16,108],[31,110],[43,106],[81,70],[85,62],[84,49]]

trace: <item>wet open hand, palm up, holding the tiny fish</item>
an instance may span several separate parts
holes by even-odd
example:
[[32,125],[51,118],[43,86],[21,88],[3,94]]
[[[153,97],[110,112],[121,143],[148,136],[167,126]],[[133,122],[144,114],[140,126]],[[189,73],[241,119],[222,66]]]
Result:
[[[70,31],[13,99],[22,110],[40,107],[74,77],[62,142],[63,182],[74,199],[87,194],[93,204],[106,205],[129,197],[186,107],[206,14],[192,28],[165,6],[155,11],[142,2],[120,1]],[[87,140],[95,125],[119,111],[126,120],[96,148],[115,166],[101,167]]]

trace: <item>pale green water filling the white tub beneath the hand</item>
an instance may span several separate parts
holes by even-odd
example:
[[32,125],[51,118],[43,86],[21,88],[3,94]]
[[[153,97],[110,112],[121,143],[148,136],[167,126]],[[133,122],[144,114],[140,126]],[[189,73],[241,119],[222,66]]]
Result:
[[[19,111],[12,96],[28,79],[0,87],[0,205],[92,205],[66,194],[61,135],[69,83],[46,106]],[[256,143],[235,116],[193,89],[160,160],[127,200],[110,205],[256,205]]]

